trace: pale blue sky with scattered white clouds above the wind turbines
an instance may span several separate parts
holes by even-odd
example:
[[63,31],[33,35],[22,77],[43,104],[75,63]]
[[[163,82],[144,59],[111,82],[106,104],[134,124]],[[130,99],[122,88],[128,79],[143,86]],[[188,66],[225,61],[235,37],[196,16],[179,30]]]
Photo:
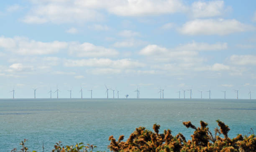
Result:
[[[255,0],[2,0],[0,98],[256,98]],[[56,93],[52,95],[56,98]],[[113,97],[113,91],[109,90]],[[117,97],[115,91],[115,97]]]

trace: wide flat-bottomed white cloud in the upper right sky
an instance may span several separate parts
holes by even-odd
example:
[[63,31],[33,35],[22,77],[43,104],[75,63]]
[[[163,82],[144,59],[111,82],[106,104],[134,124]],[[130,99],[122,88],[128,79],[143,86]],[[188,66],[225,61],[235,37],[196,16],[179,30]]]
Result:
[[235,32],[255,30],[255,27],[234,19],[198,19],[186,22],[179,30],[186,35],[228,35]]

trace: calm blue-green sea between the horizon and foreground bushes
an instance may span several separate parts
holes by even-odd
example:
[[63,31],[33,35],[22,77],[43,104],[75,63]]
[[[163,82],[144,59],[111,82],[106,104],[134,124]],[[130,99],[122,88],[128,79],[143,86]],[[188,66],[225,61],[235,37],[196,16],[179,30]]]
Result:
[[171,129],[190,138],[192,129],[182,125],[200,120],[217,127],[215,120],[229,125],[230,137],[246,135],[250,128],[256,132],[256,100],[104,100],[104,99],[20,99],[0,100],[0,151],[20,149],[20,141],[28,139],[29,150],[45,152],[55,142],[74,145],[84,142],[97,145],[97,150],[109,151],[108,137],[125,135],[125,140],[136,127],[152,130],[154,123],[160,132]]

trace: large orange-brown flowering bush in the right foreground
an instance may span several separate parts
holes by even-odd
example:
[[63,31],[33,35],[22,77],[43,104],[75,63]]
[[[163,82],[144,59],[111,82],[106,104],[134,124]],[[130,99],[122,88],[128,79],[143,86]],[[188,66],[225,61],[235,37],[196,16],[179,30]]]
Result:
[[[181,133],[173,136],[171,130],[164,130],[163,134],[159,134],[160,125],[153,125],[154,132],[138,127],[126,142],[122,141],[123,135],[118,141],[110,136],[108,148],[114,152],[256,152],[255,135],[243,137],[239,134],[230,139],[228,125],[220,120],[216,122],[220,128],[215,128],[214,134],[203,121],[200,121],[200,127],[195,127],[190,121],[183,122],[187,128],[195,130],[191,135],[192,139],[188,141]],[[221,134],[224,138],[220,137]]]

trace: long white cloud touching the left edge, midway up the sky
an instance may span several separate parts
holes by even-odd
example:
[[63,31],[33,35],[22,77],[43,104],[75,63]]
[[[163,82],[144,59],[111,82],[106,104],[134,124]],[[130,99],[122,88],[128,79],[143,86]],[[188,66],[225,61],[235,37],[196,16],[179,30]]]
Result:
[[40,42],[25,37],[0,37],[0,47],[20,55],[46,55],[59,52],[67,47],[66,42]]

